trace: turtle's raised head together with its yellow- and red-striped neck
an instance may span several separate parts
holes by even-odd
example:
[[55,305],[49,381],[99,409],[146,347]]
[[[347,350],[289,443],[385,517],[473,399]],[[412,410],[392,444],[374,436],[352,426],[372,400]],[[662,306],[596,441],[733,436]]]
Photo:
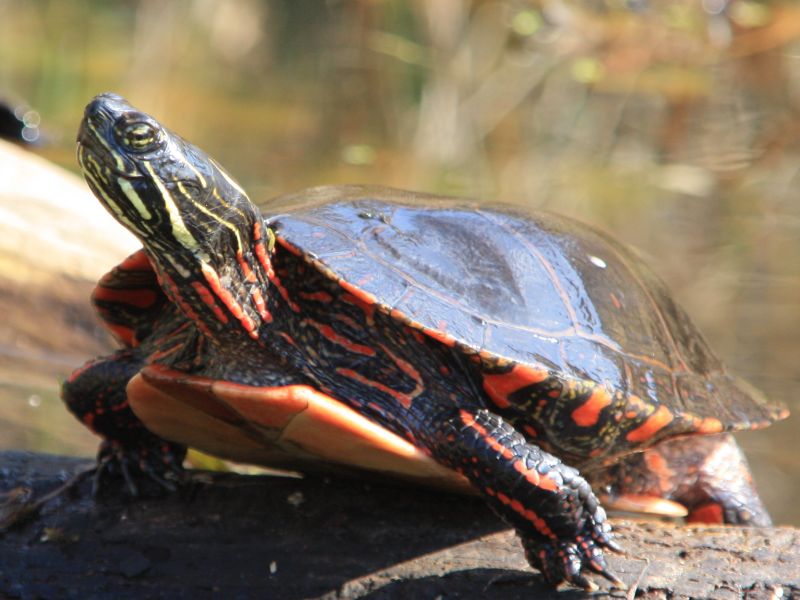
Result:
[[257,317],[248,290],[254,278],[266,285],[263,218],[218,163],[114,94],[87,105],[78,162],[98,200],[142,241],[165,292],[188,307],[187,315],[205,306],[223,324],[226,307]]

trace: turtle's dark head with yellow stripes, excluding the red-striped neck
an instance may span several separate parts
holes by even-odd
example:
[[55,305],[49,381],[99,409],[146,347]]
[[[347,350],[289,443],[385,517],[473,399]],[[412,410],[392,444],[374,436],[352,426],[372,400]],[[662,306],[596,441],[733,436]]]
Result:
[[86,107],[78,161],[100,202],[153,256],[224,254],[260,218],[211,157],[115,94]]

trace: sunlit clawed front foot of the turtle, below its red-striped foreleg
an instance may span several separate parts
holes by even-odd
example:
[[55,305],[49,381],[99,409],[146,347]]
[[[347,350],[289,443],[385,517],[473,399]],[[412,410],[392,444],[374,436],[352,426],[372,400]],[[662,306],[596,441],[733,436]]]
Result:
[[606,522],[602,508],[598,508],[595,517],[587,519],[583,529],[572,539],[547,542],[541,539],[522,540],[528,562],[541,571],[553,586],[566,582],[589,592],[596,591],[597,584],[584,575],[588,570],[602,575],[615,588],[626,588],[623,581],[608,568],[603,556],[604,548],[614,552],[621,552],[622,549],[613,540],[611,526]]

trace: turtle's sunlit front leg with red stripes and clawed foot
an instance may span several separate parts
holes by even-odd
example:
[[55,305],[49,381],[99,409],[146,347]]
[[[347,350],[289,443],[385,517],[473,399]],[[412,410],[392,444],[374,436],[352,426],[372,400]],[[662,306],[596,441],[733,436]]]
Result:
[[458,410],[430,436],[434,458],[465,475],[517,530],[528,562],[557,585],[594,589],[588,569],[616,585],[603,548],[619,550],[603,508],[576,469],[487,410]]

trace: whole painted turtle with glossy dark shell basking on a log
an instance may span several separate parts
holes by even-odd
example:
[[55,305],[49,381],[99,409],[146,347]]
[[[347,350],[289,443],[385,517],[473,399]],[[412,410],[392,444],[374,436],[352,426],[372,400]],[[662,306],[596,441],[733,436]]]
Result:
[[63,388],[104,438],[103,481],[172,488],[192,445],[468,482],[548,581],[584,588],[586,571],[619,582],[602,552],[617,546],[565,463],[612,501],[769,521],[732,438],[674,438],[785,411],[726,374],[603,234],[356,186],[264,217],[214,160],[112,94],[87,106],[78,159],[144,245],[93,296],[122,348]]

